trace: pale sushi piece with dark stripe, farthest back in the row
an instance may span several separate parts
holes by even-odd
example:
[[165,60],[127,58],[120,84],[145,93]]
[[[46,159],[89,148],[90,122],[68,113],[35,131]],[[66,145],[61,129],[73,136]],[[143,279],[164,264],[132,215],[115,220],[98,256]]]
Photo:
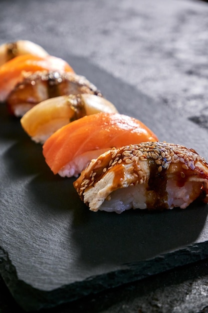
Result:
[[33,54],[37,56],[46,56],[45,51],[39,44],[29,40],[17,40],[14,42],[6,42],[0,45],[0,65],[10,59],[23,54]]

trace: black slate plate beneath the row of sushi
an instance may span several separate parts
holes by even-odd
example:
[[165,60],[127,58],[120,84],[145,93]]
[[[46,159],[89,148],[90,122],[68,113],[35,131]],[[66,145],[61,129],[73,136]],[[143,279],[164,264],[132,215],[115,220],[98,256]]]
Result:
[[[160,140],[208,158],[207,132],[86,59],[65,58],[121,113]],[[74,178],[53,175],[19,119],[0,106],[0,273],[25,310],[52,307],[208,256],[208,206],[122,214],[91,212]]]

